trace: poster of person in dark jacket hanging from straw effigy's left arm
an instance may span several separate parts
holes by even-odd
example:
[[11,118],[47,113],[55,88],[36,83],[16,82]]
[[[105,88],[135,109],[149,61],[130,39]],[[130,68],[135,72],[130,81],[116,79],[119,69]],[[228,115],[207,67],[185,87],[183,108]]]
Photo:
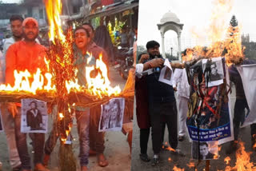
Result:
[[48,113],[46,101],[22,99],[22,133],[47,133]]

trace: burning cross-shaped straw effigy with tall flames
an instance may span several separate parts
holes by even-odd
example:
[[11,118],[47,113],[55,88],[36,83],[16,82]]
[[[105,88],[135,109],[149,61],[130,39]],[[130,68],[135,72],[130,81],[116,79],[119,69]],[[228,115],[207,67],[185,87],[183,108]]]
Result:
[[[70,137],[74,107],[90,107],[101,109],[101,105],[110,98],[125,98],[125,114],[132,117],[133,109],[128,105],[134,101],[133,82],[129,88],[121,92],[119,86],[111,87],[107,76],[107,66],[98,57],[94,66],[86,66],[86,86],[78,84],[78,70],[74,66],[74,34],[70,28],[64,34],[61,27],[60,0],[46,0],[46,13],[50,31],[50,47],[44,57],[45,68],[38,68],[35,74],[27,70],[14,70],[14,85],[0,85],[1,102],[20,102],[30,98],[46,101],[49,109],[58,106],[58,117],[54,124],[58,137],[62,141],[60,149],[61,170],[75,170],[76,161],[72,146],[65,145]],[[90,62],[92,55],[88,53]],[[94,76],[91,71],[97,71]],[[70,141],[70,140],[69,140]],[[69,165],[70,164],[70,165]]]

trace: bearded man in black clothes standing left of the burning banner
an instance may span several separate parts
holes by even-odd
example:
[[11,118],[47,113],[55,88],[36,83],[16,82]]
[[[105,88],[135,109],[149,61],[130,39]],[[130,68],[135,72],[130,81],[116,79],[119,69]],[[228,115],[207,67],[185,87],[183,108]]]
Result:
[[[160,45],[158,42],[147,42],[146,49],[148,54],[142,55],[142,58],[148,58],[149,61],[153,60],[154,58],[162,58],[159,52],[159,46]],[[152,66],[151,63],[149,64]],[[171,64],[171,66],[182,67],[180,64]],[[161,70],[162,68],[159,68],[160,72],[157,70],[151,70],[151,72],[148,72],[148,75],[146,76],[154,150],[152,165],[157,165],[159,162],[159,153],[162,147],[162,125],[164,122],[166,122],[168,127],[171,148],[176,149],[178,145],[177,107],[174,97],[174,89],[172,85],[158,81]]]

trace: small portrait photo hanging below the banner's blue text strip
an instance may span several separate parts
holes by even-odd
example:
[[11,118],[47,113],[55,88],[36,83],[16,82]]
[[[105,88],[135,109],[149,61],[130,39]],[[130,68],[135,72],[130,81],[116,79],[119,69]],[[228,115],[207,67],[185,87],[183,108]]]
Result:
[[218,159],[218,141],[192,141],[192,158],[196,160]]

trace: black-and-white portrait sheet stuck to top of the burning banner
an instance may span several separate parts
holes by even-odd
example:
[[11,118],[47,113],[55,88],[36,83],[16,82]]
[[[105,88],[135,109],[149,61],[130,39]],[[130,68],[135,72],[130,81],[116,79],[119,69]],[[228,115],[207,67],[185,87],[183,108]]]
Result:
[[[206,66],[208,66],[207,69],[206,69]],[[209,82],[207,84],[208,87],[223,84],[224,72],[223,72],[221,57],[213,58],[211,61],[207,59],[202,59],[203,73],[205,73],[205,70],[206,70],[205,77],[209,75]]]

